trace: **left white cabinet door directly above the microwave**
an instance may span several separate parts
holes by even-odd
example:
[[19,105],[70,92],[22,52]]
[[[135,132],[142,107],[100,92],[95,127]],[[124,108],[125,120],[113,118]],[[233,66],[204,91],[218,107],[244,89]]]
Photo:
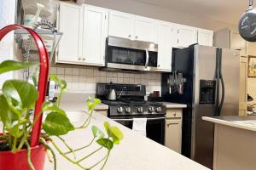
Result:
[[133,38],[134,15],[109,11],[108,36]]

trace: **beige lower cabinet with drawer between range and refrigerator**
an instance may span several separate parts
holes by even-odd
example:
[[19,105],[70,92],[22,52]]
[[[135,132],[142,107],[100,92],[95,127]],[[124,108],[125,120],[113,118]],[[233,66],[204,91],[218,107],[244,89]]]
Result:
[[166,109],[165,145],[181,153],[182,143],[182,109]]

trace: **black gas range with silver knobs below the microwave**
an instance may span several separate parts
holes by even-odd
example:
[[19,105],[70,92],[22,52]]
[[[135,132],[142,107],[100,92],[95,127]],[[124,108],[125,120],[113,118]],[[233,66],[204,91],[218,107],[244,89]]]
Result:
[[96,97],[108,105],[110,119],[131,129],[134,128],[134,122],[135,127],[143,124],[139,127],[141,130],[146,120],[146,136],[159,144],[164,144],[166,109],[160,103],[145,101],[145,95],[144,85],[98,83],[96,86]]

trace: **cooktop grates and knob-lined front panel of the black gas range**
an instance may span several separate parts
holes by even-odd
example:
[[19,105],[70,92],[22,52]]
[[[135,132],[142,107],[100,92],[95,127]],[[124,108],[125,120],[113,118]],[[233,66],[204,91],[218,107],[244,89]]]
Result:
[[102,100],[109,106],[108,116],[163,116],[165,109],[156,102],[136,102],[127,99],[122,101]]

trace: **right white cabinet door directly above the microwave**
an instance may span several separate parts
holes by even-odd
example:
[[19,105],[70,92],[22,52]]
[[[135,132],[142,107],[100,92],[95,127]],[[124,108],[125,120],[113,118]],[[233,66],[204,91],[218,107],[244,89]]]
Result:
[[157,21],[136,16],[134,38],[144,42],[157,42]]

